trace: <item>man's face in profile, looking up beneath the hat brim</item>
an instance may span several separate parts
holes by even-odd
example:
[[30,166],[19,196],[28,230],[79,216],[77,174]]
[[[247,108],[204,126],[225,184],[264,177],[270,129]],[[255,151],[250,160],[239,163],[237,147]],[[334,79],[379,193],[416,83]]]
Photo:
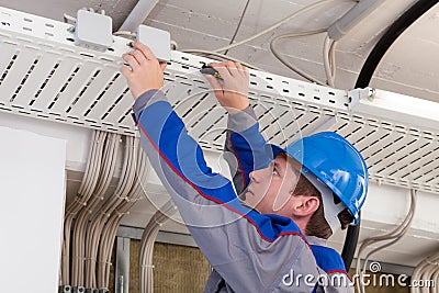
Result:
[[250,173],[246,204],[261,214],[291,216],[289,201],[299,181],[301,165],[279,154],[269,167]]

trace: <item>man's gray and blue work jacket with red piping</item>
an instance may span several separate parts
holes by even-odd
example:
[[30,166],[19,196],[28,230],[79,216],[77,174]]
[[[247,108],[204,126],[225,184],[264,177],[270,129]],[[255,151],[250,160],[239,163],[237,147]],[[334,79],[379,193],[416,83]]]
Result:
[[[306,237],[291,218],[240,203],[233,183],[207,167],[161,91],[142,94],[134,113],[151,166],[214,268],[204,292],[353,292],[340,256],[325,240]],[[244,190],[249,172],[268,162],[266,142],[250,108],[230,115],[228,129],[234,182]]]

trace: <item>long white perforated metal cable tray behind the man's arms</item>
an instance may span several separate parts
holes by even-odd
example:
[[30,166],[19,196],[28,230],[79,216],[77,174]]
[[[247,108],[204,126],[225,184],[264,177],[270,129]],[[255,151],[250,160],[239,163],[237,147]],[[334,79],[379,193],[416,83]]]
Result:
[[[0,111],[137,135],[133,98],[119,72],[130,41],[114,36],[105,53],[93,52],[75,46],[69,29],[0,8]],[[222,151],[226,112],[199,72],[206,61],[172,52],[164,91],[202,147]],[[249,97],[268,140],[286,145],[335,131],[362,153],[372,180],[439,193],[439,105],[384,91],[369,100],[362,92],[250,70]]]

